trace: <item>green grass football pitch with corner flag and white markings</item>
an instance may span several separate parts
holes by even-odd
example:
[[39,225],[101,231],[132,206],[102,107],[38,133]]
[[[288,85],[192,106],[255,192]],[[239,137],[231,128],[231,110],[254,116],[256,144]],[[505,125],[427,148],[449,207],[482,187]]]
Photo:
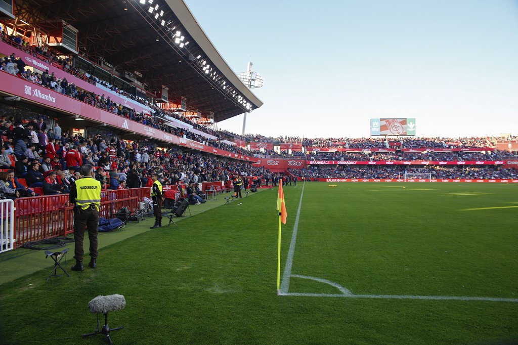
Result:
[[[506,301],[518,300],[518,185],[329,184],[284,187],[286,295],[276,295],[272,189],[103,248],[96,270],[49,282],[49,270],[38,271],[0,285],[0,342],[103,344],[80,335],[95,327],[88,301],[114,293],[127,302],[109,317],[124,325],[111,335],[116,344],[518,340],[518,303]],[[354,297],[337,296],[337,285]]]

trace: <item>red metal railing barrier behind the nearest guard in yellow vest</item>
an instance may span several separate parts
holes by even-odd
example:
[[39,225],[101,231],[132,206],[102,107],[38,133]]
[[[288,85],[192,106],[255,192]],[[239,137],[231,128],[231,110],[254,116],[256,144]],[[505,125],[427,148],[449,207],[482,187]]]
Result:
[[[113,218],[122,207],[133,213],[138,203],[150,196],[150,188],[107,190],[101,192],[100,217]],[[66,236],[73,232],[74,220],[65,195],[44,195],[15,200],[16,245],[55,236]]]

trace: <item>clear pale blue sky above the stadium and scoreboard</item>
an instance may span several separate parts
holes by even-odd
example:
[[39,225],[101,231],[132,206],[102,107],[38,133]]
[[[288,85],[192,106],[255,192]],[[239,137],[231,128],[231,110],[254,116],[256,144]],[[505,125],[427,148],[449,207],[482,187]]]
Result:
[[[368,137],[518,134],[518,1],[184,0],[235,71],[265,78],[247,133]],[[241,133],[242,116],[220,129]]]

